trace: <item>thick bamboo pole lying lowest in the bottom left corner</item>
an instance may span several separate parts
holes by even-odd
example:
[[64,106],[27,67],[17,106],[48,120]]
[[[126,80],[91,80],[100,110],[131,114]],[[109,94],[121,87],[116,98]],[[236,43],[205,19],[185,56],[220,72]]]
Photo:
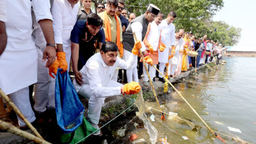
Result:
[[21,137],[24,137],[26,139],[30,139],[30,141],[34,141],[35,143],[44,143],[44,144],[49,144],[48,141],[45,141],[39,137],[36,137],[33,134],[30,134],[26,131],[20,130],[13,126],[12,124],[8,122],[4,122],[3,120],[0,120],[0,130],[11,132],[12,134],[19,135]]

